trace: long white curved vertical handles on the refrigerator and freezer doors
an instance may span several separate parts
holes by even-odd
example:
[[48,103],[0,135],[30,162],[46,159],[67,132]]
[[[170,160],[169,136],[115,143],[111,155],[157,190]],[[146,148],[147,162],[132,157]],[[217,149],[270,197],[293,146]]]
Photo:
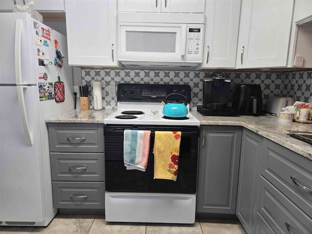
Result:
[[32,145],[32,139],[30,137],[29,124],[26,115],[25,99],[24,99],[24,88],[27,85],[21,85],[21,59],[20,59],[20,47],[21,47],[21,20],[16,20],[15,24],[15,78],[16,78],[16,88],[18,91],[18,99],[20,106],[20,117],[21,123],[23,125],[24,134],[26,138],[26,143]]

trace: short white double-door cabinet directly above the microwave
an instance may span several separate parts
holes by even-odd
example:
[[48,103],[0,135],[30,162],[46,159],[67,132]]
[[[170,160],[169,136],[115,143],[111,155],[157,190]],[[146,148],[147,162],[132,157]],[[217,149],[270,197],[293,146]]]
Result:
[[205,0],[117,0],[118,11],[204,13]]

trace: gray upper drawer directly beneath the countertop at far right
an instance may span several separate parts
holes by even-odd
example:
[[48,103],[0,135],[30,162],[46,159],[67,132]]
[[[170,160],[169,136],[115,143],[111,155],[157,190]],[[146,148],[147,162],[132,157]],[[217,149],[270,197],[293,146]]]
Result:
[[[312,218],[312,161],[265,139],[261,175]],[[293,180],[297,181],[296,184]]]

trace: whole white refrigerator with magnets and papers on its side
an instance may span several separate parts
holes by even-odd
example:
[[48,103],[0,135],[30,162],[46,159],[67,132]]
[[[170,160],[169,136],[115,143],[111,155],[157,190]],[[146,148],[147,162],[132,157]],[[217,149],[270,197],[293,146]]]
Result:
[[44,119],[74,109],[67,40],[27,13],[0,13],[0,29],[0,225],[47,226],[58,210]]

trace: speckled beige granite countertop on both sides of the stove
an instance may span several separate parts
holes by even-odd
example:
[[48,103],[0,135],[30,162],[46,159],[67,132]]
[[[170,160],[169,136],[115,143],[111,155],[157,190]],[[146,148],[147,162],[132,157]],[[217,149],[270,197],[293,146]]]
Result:
[[[48,123],[104,123],[104,119],[115,111],[109,109],[81,111],[76,109],[46,118],[45,121]],[[312,132],[312,124],[279,122],[276,116],[215,117],[202,116],[196,111],[191,111],[191,113],[200,120],[201,125],[243,126],[312,160],[312,145],[287,135],[288,131]]]

